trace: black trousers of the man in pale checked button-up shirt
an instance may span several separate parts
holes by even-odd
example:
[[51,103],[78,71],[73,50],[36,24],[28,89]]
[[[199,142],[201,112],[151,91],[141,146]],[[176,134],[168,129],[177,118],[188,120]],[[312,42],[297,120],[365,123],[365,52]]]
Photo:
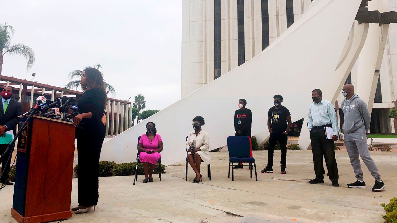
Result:
[[337,182],[339,180],[339,174],[335,159],[335,142],[326,139],[324,128],[313,128],[310,132],[310,141],[312,142],[313,165],[316,180],[324,180],[324,156],[328,169],[328,177],[330,177],[331,182]]

